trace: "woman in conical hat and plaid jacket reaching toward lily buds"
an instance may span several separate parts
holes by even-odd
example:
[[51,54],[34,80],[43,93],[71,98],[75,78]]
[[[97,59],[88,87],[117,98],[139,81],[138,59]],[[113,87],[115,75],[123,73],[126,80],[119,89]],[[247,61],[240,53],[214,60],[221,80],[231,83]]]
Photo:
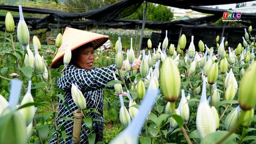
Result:
[[[65,101],[63,102],[61,99],[58,99],[58,102],[68,105],[70,109],[63,104],[60,105],[57,120],[62,117],[74,117],[73,111],[78,109],[78,107],[72,99],[71,86],[72,83],[76,83],[85,97],[87,108],[95,108],[99,112],[99,114],[90,113],[92,119],[97,119],[97,121],[93,122],[96,142],[103,141],[103,88],[109,81],[114,80],[112,72],[117,70],[114,64],[106,68],[93,67],[95,59],[94,50],[103,45],[107,40],[108,37],[104,35],[67,27],[63,34],[63,44],[50,65],[52,68],[58,68],[63,63],[63,55],[66,49],[71,45],[71,61],[62,72],[63,76],[57,78],[57,88],[65,92]],[[135,60],[137,66],[134,69],[139,68],[140,62],[138,59]],[[124,63],[122,69],[124,69]],[[60,120],[57,126],[64,126],[62,130],[65,130],[66,135],[71,135],[65,141],[67,144],[72,143],[73,121]],[[88,143],[87,135],[89,135],[89,130],[82,123],[81,144]],[[65,141],[62,139],[61,143],[65,143]],[[56,139],[51,139],[49,143],[55,144],[57,141]]]

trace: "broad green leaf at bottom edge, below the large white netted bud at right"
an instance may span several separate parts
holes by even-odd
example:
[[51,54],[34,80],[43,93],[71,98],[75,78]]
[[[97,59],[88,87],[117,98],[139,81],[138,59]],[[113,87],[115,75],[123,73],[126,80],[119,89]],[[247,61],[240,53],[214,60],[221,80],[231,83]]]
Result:
[[[219,132],[214,132],[209,135],[206,135],[200,144],[215,144],[217,143],[220,139],[225,137],[229,132],[228,131],[219,131]],[[230,135],[224,142],[221,144],[237,144],[234,140],[236,139],[236,134]]]

